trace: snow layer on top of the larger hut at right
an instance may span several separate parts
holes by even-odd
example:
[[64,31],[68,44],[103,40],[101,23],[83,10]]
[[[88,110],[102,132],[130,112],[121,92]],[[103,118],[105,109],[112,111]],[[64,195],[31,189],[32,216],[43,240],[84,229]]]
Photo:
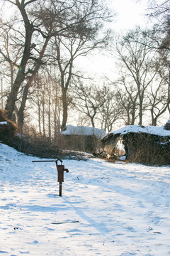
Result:
[[118,129],[117,131],[110,132],[110,134],[128,134],[128,132],[142,132],[147,134],[154,134],[159,136],[170,136],[170,131],[164,129],[164,127],[155,127],[155,126],[140,126],[140,125],[128,125],[127,127],[123,127]]

